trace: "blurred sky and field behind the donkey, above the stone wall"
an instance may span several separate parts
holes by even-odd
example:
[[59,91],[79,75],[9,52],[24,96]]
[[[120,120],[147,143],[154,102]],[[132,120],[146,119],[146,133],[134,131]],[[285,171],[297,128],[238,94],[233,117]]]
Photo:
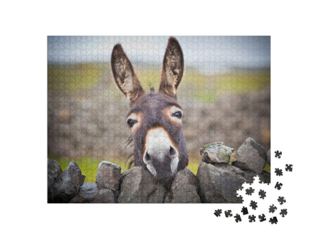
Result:
[[[237,150],[248,138],[270,149],[270,36],[177,36],[185,73],[177,90],[184,110],[188,167],[204,145]],[[64,170],[75,160],[95,182],[98,163],[127,169],[129,104],[115,86],[110,55],[121,43],[146,92],[159,89],[168,36],[48,37],[48,158]]]

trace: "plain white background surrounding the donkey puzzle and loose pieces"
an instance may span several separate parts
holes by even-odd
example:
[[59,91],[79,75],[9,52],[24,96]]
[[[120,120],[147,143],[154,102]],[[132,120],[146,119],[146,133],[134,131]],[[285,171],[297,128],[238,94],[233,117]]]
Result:
[[[2,3],[2,238],[315,237],[317,8],[310,1],[181,2]],[[248,224],[215,217],[216,204],[47,204],[47,35],[271,35],[271,149],[294,164],[288,215],[277,225]]]

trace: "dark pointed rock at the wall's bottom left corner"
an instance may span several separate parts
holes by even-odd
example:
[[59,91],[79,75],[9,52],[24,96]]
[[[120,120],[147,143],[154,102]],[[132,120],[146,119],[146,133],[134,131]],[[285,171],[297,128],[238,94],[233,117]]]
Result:
[[81,175],[79,165],[72,161],[60,178],[56,179],[48,189],[48,201],[52,203],[68,203],[77,194],[85,176]]

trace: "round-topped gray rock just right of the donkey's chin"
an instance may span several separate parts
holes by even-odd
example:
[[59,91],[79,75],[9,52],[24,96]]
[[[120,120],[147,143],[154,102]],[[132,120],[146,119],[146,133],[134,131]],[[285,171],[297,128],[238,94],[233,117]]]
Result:
[[189,168],[180,170],[175,176],[165,203],[200,203],[199,181]]

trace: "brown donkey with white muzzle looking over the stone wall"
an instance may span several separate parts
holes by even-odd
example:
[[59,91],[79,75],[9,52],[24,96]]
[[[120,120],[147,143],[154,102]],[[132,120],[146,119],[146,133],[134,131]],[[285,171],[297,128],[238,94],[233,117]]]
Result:
[[120,44],[114,46],[111,69],[115,83],[129,100],[126,123],[134,141],[134,165],[145,166],[156,179],[169,180],[188,165],[182,132],[182,107],[176,90],[184,62],[178,41],[170,37],[164,54],[159,91],[146,93]]

